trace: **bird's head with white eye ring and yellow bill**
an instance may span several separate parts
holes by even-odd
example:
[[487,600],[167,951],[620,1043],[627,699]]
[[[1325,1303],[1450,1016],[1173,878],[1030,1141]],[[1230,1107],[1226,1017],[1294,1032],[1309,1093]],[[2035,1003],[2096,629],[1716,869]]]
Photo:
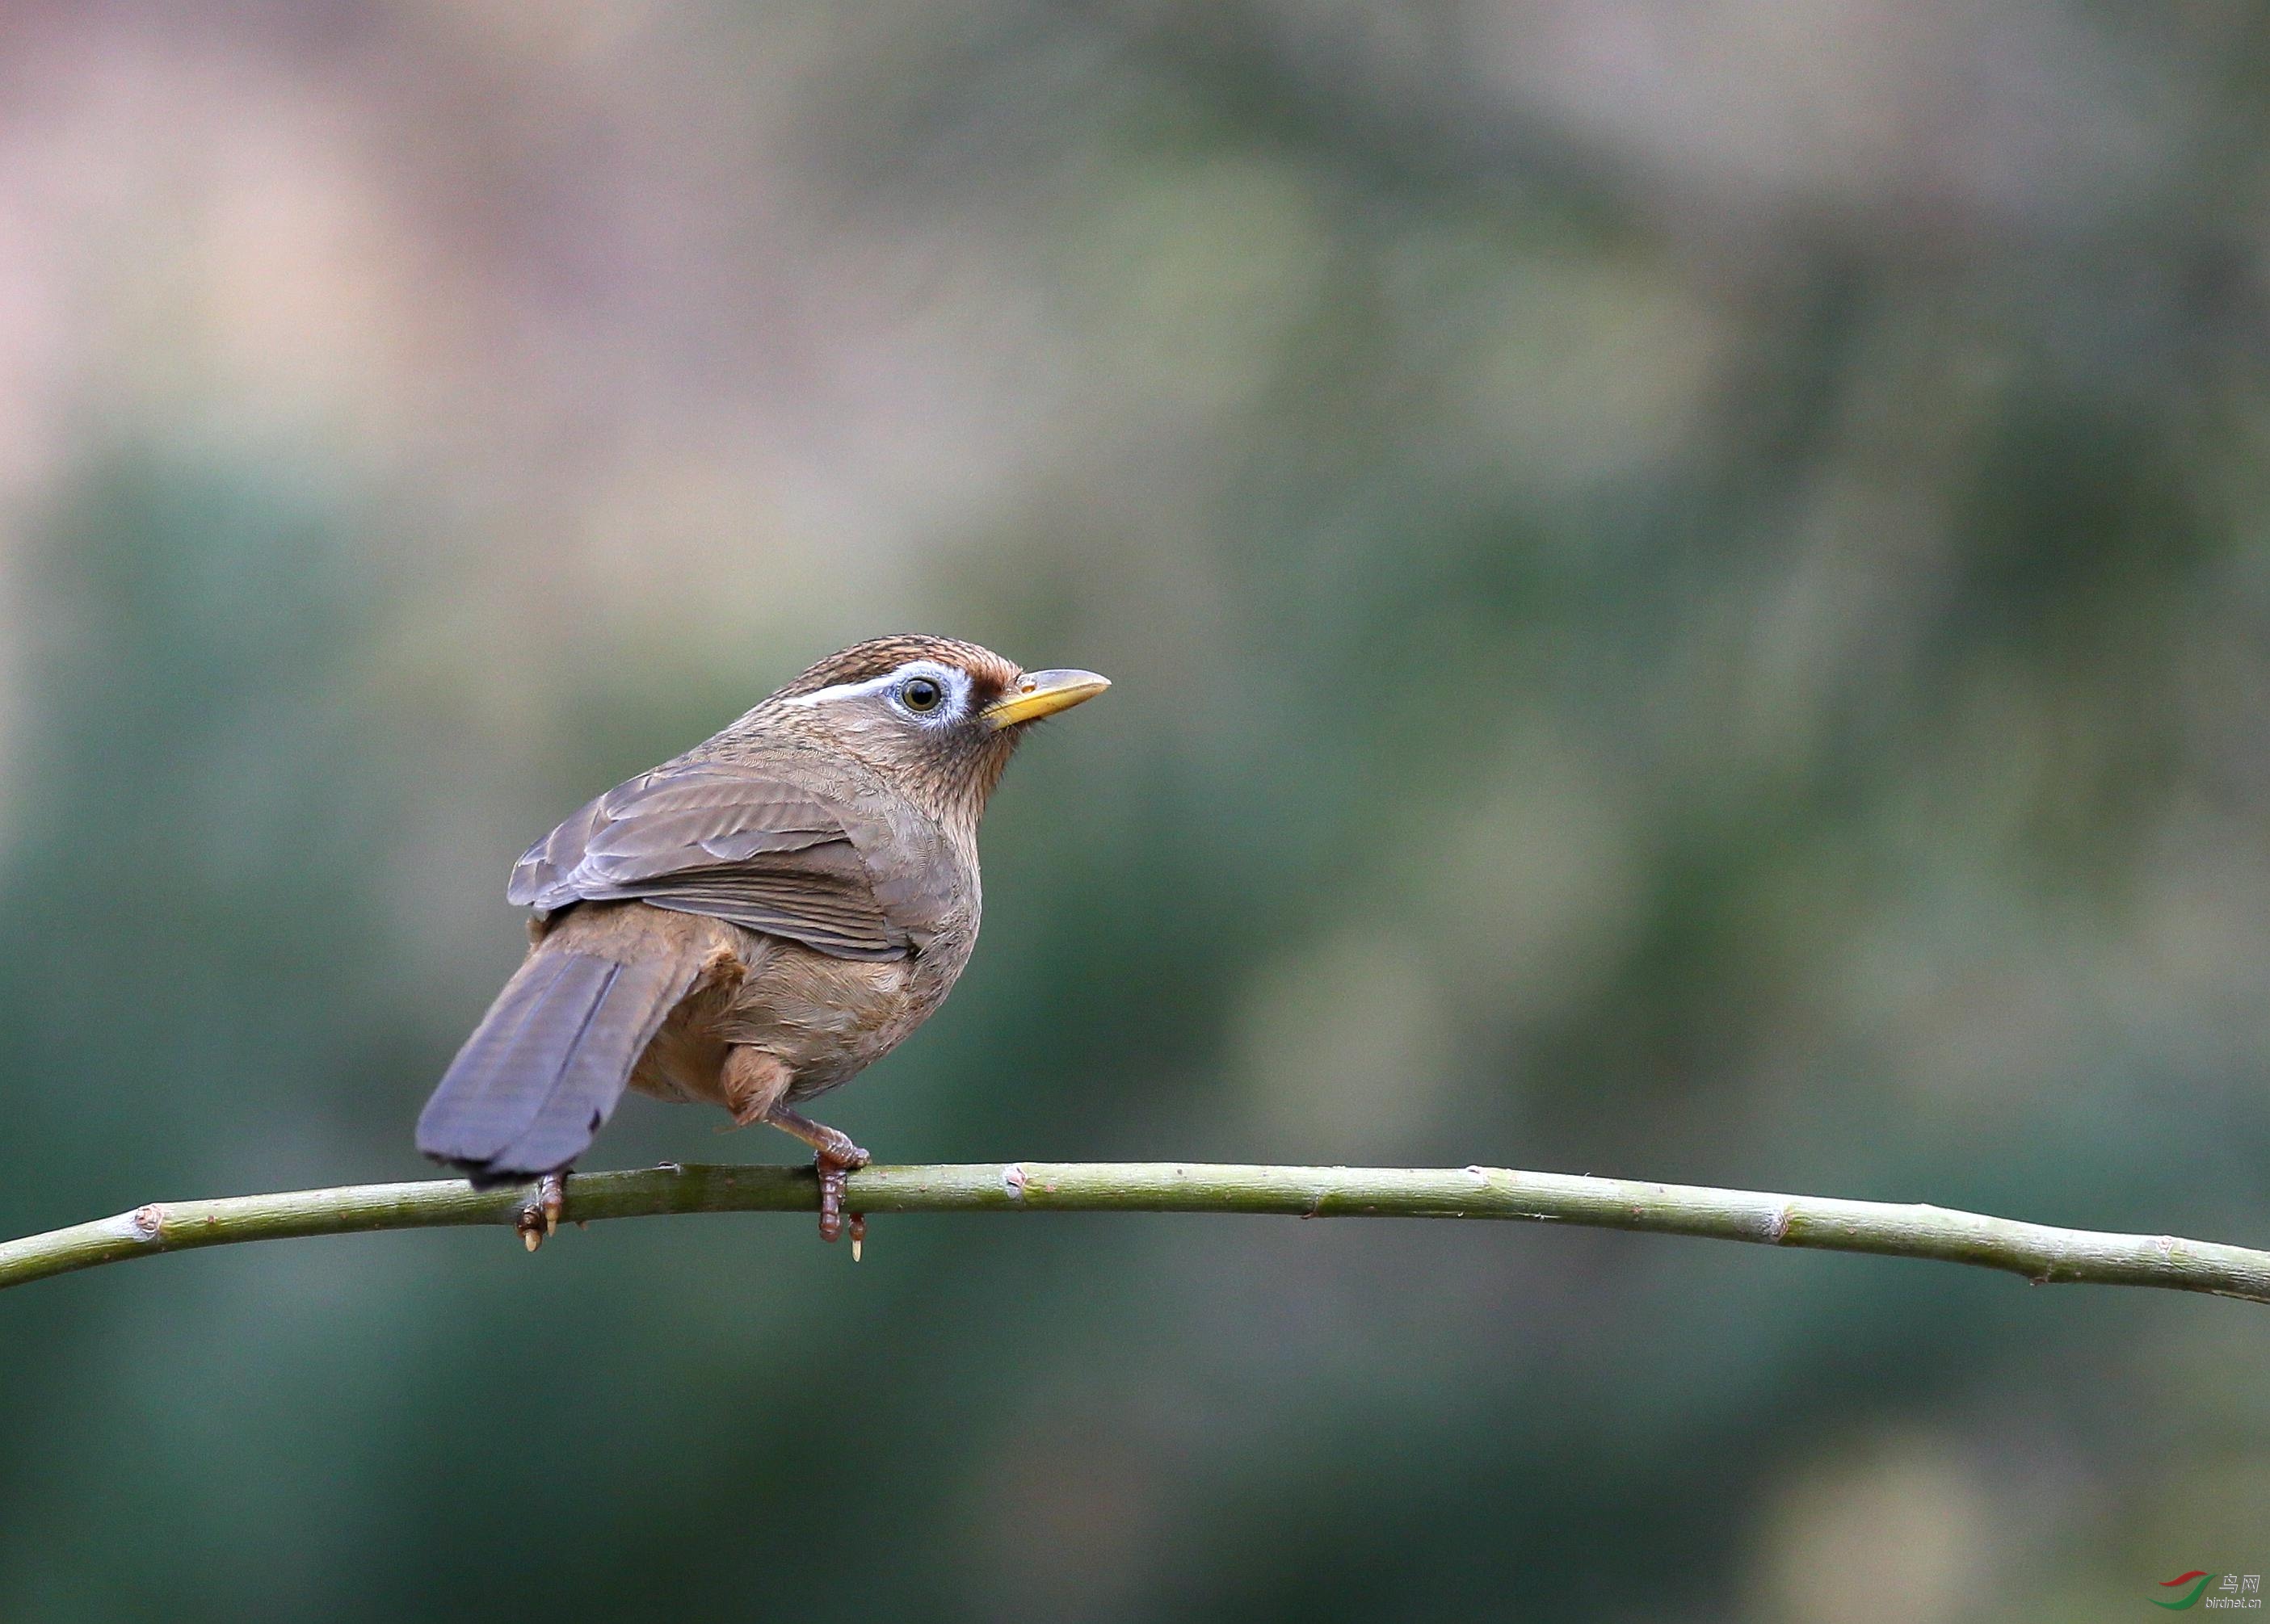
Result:
[[1094,699],[1094,671],[1024,671],[953,637],[872,637],[804,671],[756,714],[822,737],[938,812],[985,810],[1031,724]]

